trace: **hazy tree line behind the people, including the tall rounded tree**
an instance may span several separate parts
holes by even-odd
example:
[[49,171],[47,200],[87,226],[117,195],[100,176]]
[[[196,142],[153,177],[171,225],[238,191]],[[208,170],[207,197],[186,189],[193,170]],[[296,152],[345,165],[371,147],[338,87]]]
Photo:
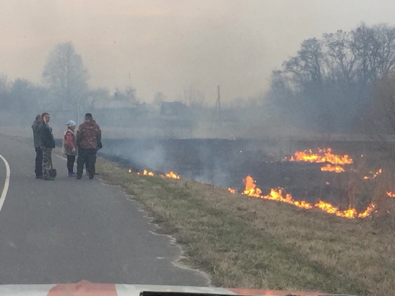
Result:
[[88,71],[73,44],[59,43],[46,58],[43,85],[24,78],[9,81],[6,74],[0,74],[0,110],[18,112],[22,115],[20,123],[26,124],[33,114],[43,110],[69,111],[77,118],[78,113],[91,109],[95,101],[116,99],[138,104],[135,89],[126,87],[110,94],[105,88],[89,89],[88,78]]

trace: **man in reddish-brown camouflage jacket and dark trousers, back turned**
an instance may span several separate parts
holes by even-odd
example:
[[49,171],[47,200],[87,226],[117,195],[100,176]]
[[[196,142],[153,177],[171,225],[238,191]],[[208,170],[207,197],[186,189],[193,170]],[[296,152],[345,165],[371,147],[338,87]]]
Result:
[[86,163],[89,179],[95,175],[96,152],[102,148],[102,131],[91,113],[85,114],[85,121],[77,131],[77,179],[82,178],[83,165]]

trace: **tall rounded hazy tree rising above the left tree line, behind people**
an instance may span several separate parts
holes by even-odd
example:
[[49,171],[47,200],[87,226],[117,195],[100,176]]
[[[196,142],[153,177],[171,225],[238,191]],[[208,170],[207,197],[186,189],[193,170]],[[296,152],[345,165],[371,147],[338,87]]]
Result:
[[71,42],[59,43],[49,53],[42,77],[61,108],[79,109],[86,98],[88,78],[81,56]]

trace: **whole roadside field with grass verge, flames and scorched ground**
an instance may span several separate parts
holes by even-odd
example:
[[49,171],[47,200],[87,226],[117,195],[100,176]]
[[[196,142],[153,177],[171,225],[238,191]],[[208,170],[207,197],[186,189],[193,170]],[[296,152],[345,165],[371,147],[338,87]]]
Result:
[[222,287],[394,291],[391,145],[115,140],[98,169]]

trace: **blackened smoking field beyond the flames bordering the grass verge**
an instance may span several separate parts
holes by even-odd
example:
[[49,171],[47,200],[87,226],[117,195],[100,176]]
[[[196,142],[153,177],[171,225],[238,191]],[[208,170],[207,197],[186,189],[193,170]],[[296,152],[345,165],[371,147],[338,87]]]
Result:
[[[343,165],[345,172],[322,172],[326,163],[288,161],[295,151],[327,147],[352,159]],[[389,161],[394,153],[372,141],[123,139],[105,141],[100,153],[135,170],[173,170],[186,179],[237,191],[244,189],[243,178],[251,175],[265,194],[282,187],[296,200],[323,200],[341,210],[352,206],[359,212],[374,197],[395,192],[394,165]],[[371,178],[380,169],[380,178]]]

